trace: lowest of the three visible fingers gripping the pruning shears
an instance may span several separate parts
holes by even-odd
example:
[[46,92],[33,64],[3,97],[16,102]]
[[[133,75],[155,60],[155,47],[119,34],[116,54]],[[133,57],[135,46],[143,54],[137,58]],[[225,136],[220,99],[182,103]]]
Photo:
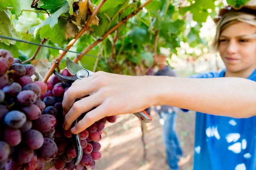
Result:
[[71,129],[71,132],[76,134],[80,133],[81,131],[85,130],[90,125],[93,125],[96,121],[106,117],[106,111],[104,105],[100,105],[99,107],[95,108],[94,110],[86,113],[83,119],[81,119],[76,126]]

